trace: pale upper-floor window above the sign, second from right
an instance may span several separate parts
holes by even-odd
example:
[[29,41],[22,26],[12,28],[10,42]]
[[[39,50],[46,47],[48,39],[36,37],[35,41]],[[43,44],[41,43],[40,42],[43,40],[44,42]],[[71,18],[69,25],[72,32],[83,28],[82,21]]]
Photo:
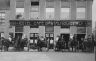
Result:
[[61,19],[68,20],[70,18],[70,8],[61,8]]

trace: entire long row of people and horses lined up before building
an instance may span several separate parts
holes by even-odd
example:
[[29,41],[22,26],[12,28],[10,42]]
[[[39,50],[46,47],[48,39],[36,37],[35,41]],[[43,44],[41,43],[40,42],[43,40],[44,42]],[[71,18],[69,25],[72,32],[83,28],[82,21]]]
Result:
[[[49,38],[37,37],[37,43],[33,44],[35,45],[36,49],[38,51],[42,51],[42,48],[47,48],[47,51],[51,48],[55,51],[64,51],[65,49],[68,51],[94,51],[94,40],[92,38],[81,38],[80,40],[77,40],[74,36],[73,38],[70,38],[69,40],[65,40],[61,36],[58,36],[56,40]],[[8,51],[9,46],[13,46],[17,51],[24,50],[24,47],[28,47],[30,49],[30,42],[27,38],[12,38],[9,37],[9,39],[5,39],[4,37],[1,37],[0,39],[0,49],[6,48],[6,51]]]

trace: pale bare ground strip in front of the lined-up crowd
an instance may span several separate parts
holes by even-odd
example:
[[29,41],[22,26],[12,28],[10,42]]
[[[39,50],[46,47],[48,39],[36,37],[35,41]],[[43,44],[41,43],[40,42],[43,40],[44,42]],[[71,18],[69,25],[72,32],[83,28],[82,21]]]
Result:
[[0,61],[95,61],[95,56],[72,52],[0,52]]

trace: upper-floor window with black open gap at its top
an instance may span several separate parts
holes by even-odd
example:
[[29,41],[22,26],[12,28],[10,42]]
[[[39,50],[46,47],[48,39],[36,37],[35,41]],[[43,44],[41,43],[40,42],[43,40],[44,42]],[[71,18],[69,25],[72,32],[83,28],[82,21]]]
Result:
[[30,18],[39,19],[39,1],[31,2]]

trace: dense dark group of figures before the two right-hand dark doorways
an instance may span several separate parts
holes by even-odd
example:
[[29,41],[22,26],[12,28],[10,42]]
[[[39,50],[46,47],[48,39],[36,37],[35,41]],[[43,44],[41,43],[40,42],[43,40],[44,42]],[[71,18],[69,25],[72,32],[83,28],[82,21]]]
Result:
[[64,38],[59,37],[56,42],[57,51],[63,51],[67,49],[68,51],[94,51],[94,40],[92,38],[80,38],[77,40],[76,36],[65,40]]

